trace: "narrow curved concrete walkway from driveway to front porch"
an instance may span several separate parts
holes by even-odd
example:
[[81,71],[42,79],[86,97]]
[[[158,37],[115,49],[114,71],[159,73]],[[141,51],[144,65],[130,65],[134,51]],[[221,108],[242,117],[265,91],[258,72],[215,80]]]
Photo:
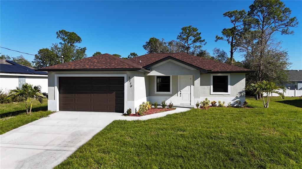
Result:
[[164,116],[169,115],[169,114],[186,112],[188,110],[190,110],[190,109],[189,108],[180,108],[180,107],[177,107],[175,110],[170,110],[170,111],[166,111],[166,112],[155,113],[155,114],[151,114],[151,115],[144,115],[144,116],[140,116],[140,117],[135,117],[135,116],[120,116],[120,118],[118,118],[117,120],[128,120],[128,121],[132,121],[132,120],[148,120],[148,119],[151,119],[151,118],[164,117]]

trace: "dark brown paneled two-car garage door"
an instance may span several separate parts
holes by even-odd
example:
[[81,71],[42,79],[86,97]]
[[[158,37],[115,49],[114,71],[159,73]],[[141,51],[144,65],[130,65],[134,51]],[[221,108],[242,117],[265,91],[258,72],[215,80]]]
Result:
[[59,77],[59,109],[124,112],[124,77]]

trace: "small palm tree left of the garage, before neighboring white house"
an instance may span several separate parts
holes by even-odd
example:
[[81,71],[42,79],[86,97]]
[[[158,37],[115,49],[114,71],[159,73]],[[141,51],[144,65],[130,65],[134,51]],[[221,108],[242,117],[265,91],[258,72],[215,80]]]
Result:
[[[25,100],[26,114],[31,113],[31,108],[33,106],[33,100],[38,100],[43,103],[43,99],[47,98],[48,94],[41,92],[41,86],[34,86],[32,84],[25,83],[21,88],[16,88],[10,90],[8,93],[8,98],[22,98]],[[31,103],[31,108],[28,112],[27,103]]]

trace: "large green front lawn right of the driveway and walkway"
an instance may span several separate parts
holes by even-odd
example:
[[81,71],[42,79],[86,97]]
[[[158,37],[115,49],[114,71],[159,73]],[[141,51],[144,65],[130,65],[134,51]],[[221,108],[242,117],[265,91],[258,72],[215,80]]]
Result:
[[302,168],[302,99],[246,100],[254,108],[114,121],[55,168]]

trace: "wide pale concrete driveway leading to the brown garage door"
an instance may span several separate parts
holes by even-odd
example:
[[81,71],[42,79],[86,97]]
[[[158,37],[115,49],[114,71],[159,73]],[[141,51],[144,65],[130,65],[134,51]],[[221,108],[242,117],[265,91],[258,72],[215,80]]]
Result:
[[0,168],[53,168],[121,113],[56,112],[0,136]]

